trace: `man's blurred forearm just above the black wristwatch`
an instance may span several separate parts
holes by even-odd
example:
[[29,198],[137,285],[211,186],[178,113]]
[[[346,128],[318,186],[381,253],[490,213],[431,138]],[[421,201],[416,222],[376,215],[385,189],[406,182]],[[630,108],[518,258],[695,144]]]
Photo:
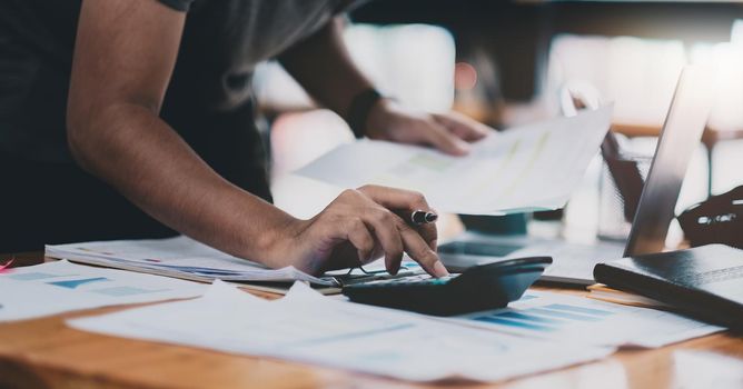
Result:
[[373,87],[346,49],[339,18],[287,50],[280,61],[313,98],[344,118],[354,97]]

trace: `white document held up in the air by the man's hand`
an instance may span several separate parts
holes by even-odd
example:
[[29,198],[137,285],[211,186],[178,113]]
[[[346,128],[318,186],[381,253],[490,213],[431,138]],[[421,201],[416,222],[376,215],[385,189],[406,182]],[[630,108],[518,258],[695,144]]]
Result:
[[343,144],[296,173],[356,188],[417,190],[443,212],[503,215],[565,206],[598,152],[612,107],[493,132],[466,157],[385,141]]

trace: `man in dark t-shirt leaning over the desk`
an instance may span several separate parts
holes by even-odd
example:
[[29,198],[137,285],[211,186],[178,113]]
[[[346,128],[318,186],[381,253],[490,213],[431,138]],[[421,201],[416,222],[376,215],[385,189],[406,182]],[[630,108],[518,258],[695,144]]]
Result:
[[446,275],[435,227],[400,217],[429,209],[419,193],[347,190],[309,220],[270,203],[249,92],[254,67],[269,58],[358,136],[464,154],[485,134],[462,117],[414,112],[376,93],[340,38],[337,14],[351,6],[3,0],[2,250],[176,230],[310,273],[382,255],[396,272],[407,252]]

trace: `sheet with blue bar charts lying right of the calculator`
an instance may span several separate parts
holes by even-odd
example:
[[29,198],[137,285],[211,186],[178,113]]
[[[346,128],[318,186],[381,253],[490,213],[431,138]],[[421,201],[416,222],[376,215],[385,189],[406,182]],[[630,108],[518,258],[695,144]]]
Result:
[[539,291],[528,291],[505,309],[464,315],[452,320],[529,338],[644,348],[724,330],[662,310]]

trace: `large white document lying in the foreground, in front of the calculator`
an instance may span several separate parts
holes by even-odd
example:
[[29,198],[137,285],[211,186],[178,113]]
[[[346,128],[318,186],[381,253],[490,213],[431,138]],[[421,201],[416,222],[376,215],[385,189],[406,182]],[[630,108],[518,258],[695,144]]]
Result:
[[603,358],[611,347],[536,341],[320,296],[267,301],[220,281],[201,298],[69,320],[110,336],[274,357],[387,377],[501,380]]

